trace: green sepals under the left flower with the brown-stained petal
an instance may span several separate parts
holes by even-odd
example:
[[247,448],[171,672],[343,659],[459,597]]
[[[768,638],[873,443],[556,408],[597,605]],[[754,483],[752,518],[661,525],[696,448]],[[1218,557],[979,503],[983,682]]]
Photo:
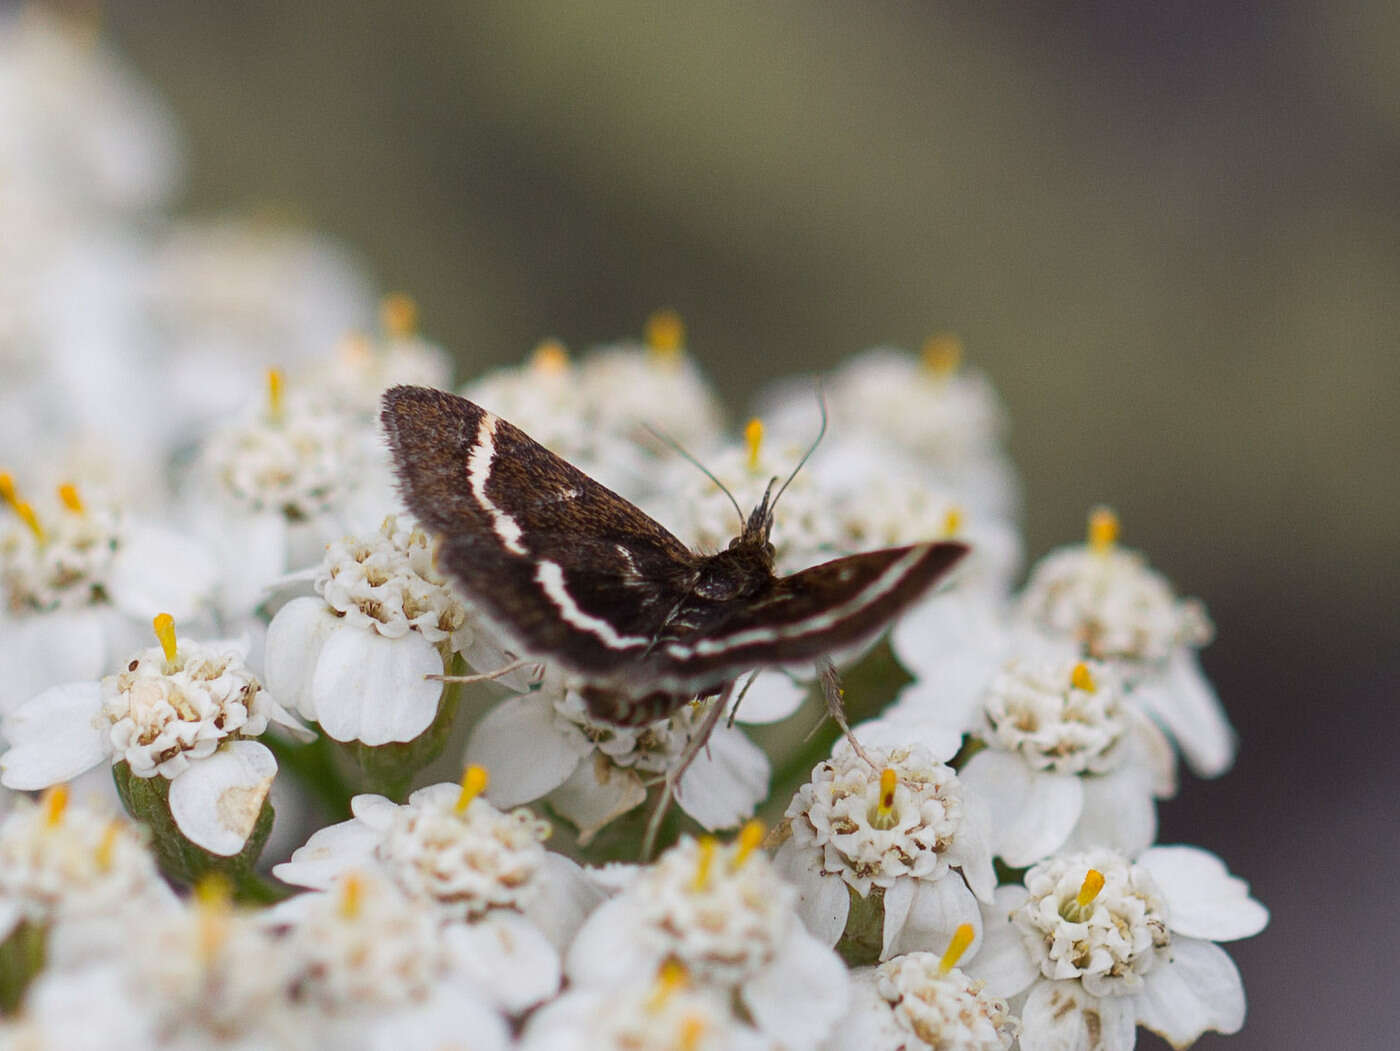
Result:
[[270,793],[263,799],[262,810],[258,812],[258,820],[244,848],[225,858],[210,854],[185,838],[185,833],[171,814],[168,778],[136,777],[130,764],[125,761],[112,767],[112,778],[116,781],[116,792],[122,796],[126,812],[151,830],[155,861],[171,880],[192,886],[217,873],[228,880],[239,901],[266,901],[277,897],[253,868],[272,833],[274,812]]

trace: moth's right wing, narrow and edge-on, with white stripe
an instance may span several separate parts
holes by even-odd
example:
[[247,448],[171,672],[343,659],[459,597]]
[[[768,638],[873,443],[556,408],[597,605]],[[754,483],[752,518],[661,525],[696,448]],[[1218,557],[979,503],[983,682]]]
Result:
[[966,544],[951,542],[892,547],[774,579],[703,631],[658,645],[641,677],[680,693],[853,647],[917,602],[966,553]]

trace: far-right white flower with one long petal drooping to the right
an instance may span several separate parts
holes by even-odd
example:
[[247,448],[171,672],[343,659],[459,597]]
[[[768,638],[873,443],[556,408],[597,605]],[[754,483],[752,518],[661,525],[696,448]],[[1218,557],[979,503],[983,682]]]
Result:
[[1112,511],[1095,511],[1086,544],[1051,551],[1035,567],[1019,614],[1085,656],[1120,663],[1133,701],[1165,726],[1196,773],[1218,777],[1235,759],[1235,731],[1196,656],[1211,638],[1210,620],[1141,554],[1119,547],[1117,532]]

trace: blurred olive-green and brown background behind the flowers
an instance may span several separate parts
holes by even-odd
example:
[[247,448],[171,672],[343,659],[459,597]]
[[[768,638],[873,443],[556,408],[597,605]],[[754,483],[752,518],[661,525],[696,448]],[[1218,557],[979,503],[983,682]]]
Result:
[[1030,553],[1110,502],[1217,620],[1243,753],[1163,838],[1217,849],[1274,922],[1232,949],[1249,1026],[1200,1047],[1394,1045],[1400,6],[104,20],[183,122],[188,210],[344,238],[466,372],[671,305],[738,411],[958,332],[1011,410]]

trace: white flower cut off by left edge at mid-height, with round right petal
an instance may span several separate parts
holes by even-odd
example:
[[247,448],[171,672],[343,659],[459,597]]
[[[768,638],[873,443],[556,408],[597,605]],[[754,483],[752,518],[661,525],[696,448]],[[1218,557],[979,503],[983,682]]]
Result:
[[17,512],[0,522],[0,712],[111,670],[162,610],[195,624],[210,613],[217,567],[189,537],[71,484],[35,508],[0,473],[0,498]]

